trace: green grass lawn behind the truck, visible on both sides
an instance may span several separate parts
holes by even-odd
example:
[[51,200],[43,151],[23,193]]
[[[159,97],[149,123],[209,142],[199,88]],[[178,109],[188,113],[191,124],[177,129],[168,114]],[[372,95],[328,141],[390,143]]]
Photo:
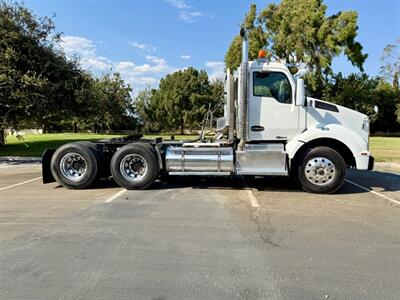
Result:
[[[85,134],[85,133],[54,133],[25,135],[23,141],[15,136],[8,136],[5,146],[0,147],[0,156],[41,156],[46,148],[57,148],[60,145],[73,141],[96,141],[113,138],[121,135]],[[146,138],[155,138],[168,135],[147,135]],[[195,136],[176,135],[176,139],[192,139]],[[371,137],[370,151],[376,161],[400,163],[400,138]]]

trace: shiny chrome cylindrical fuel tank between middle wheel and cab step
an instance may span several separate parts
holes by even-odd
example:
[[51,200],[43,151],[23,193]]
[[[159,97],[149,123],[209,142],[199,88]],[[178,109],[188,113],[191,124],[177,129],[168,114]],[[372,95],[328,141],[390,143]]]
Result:
[[165,163],[172,175],[229,175],[234,171],[233,149],[227,147],[170,146]]

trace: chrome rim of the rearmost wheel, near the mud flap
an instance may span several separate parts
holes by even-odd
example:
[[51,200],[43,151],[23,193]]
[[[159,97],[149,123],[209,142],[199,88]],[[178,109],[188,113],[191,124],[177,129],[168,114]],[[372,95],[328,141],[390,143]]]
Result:
[[67,153],[61,158],[60,170],[68,180],[79,181],[86,174],[86,160],[79,153]]

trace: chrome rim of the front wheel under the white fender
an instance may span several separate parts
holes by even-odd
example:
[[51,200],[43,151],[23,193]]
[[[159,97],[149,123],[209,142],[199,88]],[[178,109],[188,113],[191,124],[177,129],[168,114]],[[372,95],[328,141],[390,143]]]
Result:
[[327,185],[335,178],[335,165],[325,157],[310,159],[304,169],[307,180],[316,185]]

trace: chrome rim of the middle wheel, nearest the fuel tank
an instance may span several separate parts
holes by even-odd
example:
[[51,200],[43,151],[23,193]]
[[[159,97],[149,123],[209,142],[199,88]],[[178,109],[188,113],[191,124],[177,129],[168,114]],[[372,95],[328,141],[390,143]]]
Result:
[[120,163],[122,176],[129,181],[139,181],[147,174],[147,162],[139,154],[129,154]]

